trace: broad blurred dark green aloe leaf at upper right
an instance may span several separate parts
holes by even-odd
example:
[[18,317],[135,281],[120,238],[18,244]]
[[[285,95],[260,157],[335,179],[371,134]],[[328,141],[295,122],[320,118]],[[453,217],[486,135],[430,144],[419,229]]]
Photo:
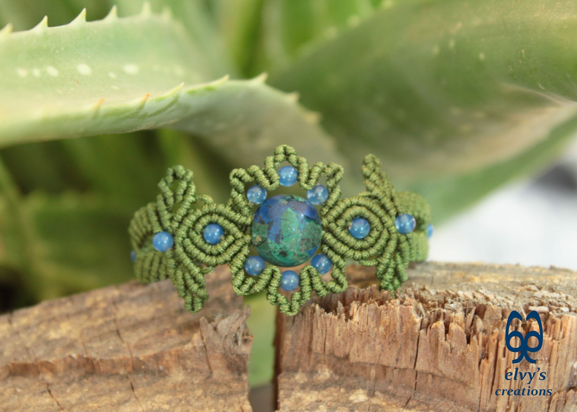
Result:
[[577,115],[574,2],[383,5],[271,75],[354,161],[373,152],[406,185],[470,174]]

